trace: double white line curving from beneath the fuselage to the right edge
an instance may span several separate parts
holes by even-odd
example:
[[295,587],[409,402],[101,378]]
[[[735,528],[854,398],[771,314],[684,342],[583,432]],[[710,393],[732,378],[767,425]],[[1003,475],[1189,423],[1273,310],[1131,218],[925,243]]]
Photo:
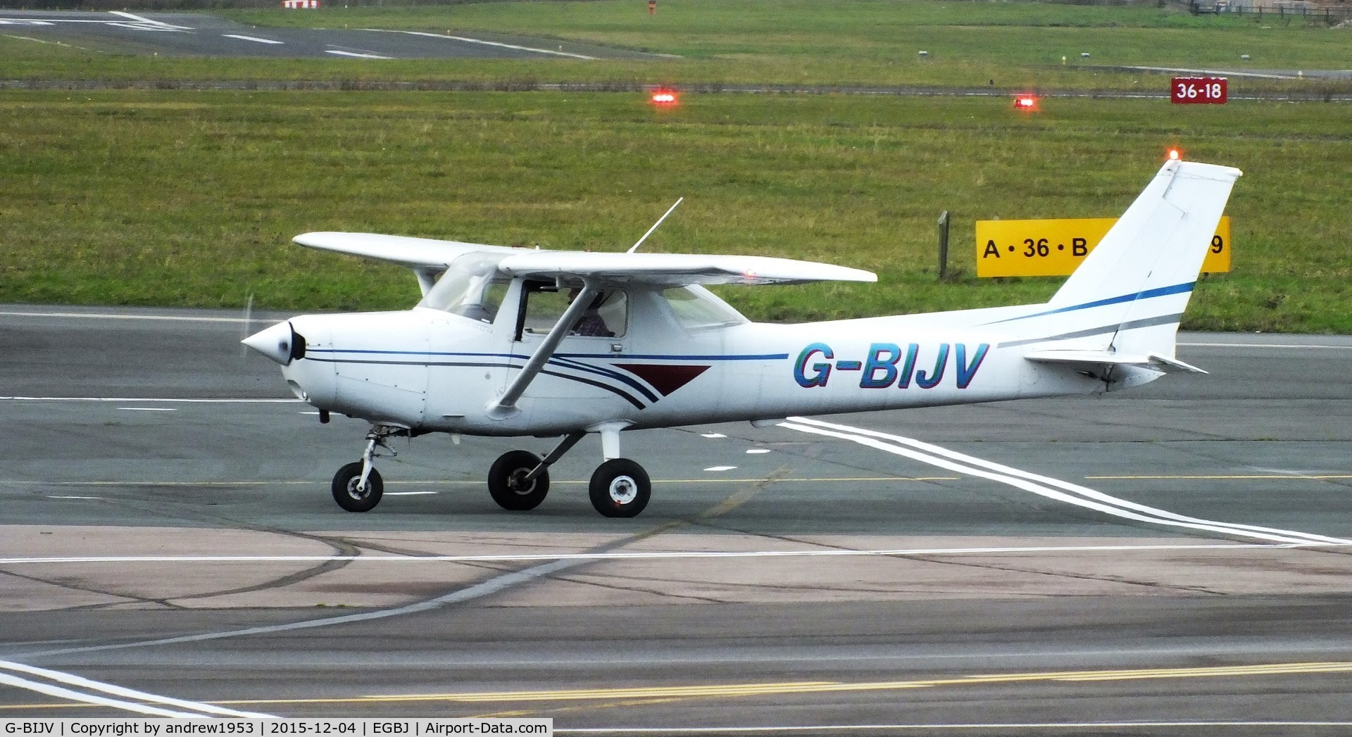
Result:
[[955,450],[949,450],[938,445],[932,445],[927,442],[921,442],[900,435],[890,435],[887,433],[879,433],[875,430],[864,430],[860,427],[850,427],[848,425],[834,425],[830,422],[822,422],[800,417],[788,418],[788,421],[781,422],[779,426],[787,427],[790,430],[798,430],[802,433],[813,433],[818,435],[834,437],[850,442],[857,442],[860,445],[876,448],[887,453],[903,456],[919,462],[936,465],[938,468],[945,468],[948,471],[968,473],[979,479],[988,479],[991,481],[1007,484],[1023,491],[1037,494],[1040,496],[1045,496],[1048,499],[1065,502],[1068,504],[1091,508],[1095,511],[1110,514],[1113,517],[1121,517],[1137,522],[1149,522],[1153,525],[1165,525],[1172,527],[1184,527],[1191,530],[1251,537],[1272,542],[1333,542],[1340,545],[1341,544],[1352,545],[1352,540],[1317,536],[1294,530],[1280,530],[1275,527],[1260,527],[1255,525],[1236,525],[1230,522],[1217,522],[1214,519],[1201,519],[1195,517],[1175,514],[1167,510],[1160,510],[1156,507],[1148,507],[1145,504],[1128,502],[1126,499],[1118,499],[1117,496],[1110,496],[1107,494],[1091,490],[1088,487],[1082,487],[1079,484],[1072,484],[1068,481],[1063,481],[1060,479],[1038,476],[1036,473],[1029,473],[1026,471],[1021,471],[1007,465],[1000,465],[983,458],[967,456],[964,453],[957,453]]

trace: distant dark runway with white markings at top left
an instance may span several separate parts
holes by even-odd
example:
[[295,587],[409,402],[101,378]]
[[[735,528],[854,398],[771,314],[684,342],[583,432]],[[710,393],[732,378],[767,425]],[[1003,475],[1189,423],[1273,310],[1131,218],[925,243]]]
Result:
[[623,49],[502,34],[260,28],[210,15],[172,12],[0,9],[0,34],[100,51],[197,57],[658,58]]

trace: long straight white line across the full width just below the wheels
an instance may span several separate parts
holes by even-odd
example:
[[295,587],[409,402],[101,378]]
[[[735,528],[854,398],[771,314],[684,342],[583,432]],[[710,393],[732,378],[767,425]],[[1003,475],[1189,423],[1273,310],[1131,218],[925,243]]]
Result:
[[1343,542],[1180,542],[1169,545],[1036,545],[1007,548],[896,548],[849,550],[814,548],[810,550],[629,550],[622,553],[527,553],[514,556],[69,556],[0,558],[0,565],[49,565],[89,563],[549,563],[603,560],[680,560],[680,558],[794,558],[794,557],[903,557],[903,556],[990,556],[1022,553],[1128,553],[1180,550],[1303,550],[1347,548]]

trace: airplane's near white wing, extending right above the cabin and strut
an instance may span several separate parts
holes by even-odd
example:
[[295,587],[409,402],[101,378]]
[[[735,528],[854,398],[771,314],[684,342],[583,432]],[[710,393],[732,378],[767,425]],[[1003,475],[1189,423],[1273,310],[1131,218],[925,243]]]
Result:
[[807,281],[877,281],[861,269],[771,258],[765,256],[699,256],[683,253],[591,253],[531,250],[498,264],[508,276],[577,277],[606,284],[803,284]]

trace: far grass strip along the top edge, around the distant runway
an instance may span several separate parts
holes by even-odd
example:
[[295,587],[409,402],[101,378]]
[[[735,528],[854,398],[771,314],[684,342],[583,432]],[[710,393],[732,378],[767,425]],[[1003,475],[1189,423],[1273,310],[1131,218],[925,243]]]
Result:
[[[668,61],[219,60],[39,53],[0,35],[3,78],[439,80],[684,84],[983,85],[1138,89],[1159,77],[1102,66],[1341,69],[1352,30],[1294,18],[1192,16],[1178,8],[1030,1],[642,0],[223,11],[258,26],[500,32],[676,54]],[[544,41],[548,43],[548,41]],[[927,51],[922,61],[918,51]],[[1090,54],[1090,64],[1080,60]],[[34,58],[32,54],[37,54]],[[1241,55],[1248,55],[1242,61]],[[1067,57],[1067,65],[1061,65]],[[1095,69],[1084,69],[1092,65]],[[1253,91],[1349,92],[1352,82],[1234,78]]]

